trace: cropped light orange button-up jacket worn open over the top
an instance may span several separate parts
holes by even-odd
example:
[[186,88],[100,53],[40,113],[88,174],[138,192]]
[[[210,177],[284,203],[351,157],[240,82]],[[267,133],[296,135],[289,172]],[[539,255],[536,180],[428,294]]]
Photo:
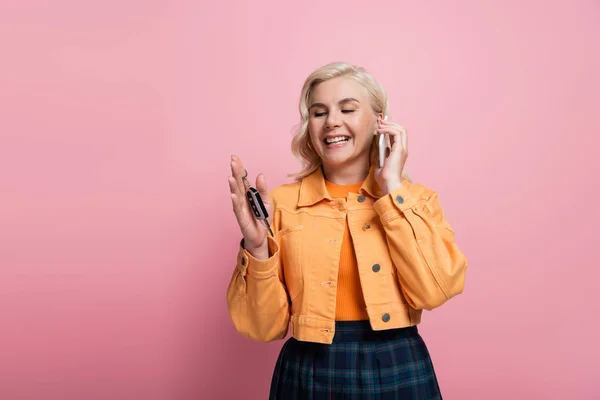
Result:
[[360,194],[332,199],[318,168],[270,193],[274,205],[268,260],[240,246],[227,290],[235,328],[252,339],[331,343],[345,219],[356,251],[374,330],[416,325],[423,309],[463,291],[467,260],[436,192],[403,181],[382,196],[373,169]]

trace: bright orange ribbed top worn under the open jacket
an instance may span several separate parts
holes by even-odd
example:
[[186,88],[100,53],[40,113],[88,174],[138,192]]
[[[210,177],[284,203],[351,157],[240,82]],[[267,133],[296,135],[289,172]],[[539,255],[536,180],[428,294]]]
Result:
[[[348,198],[348,193],[358,193],[362,182],[351,185],[337,185],[325,181],[327,191],[333,198]],[[358,263],[354,253],[354,244],[348,229],[348,219],[344,228],[342,250],[340,253],[340,268],[336,295],[336,321],[368,320],[367,306],[360,286]]]

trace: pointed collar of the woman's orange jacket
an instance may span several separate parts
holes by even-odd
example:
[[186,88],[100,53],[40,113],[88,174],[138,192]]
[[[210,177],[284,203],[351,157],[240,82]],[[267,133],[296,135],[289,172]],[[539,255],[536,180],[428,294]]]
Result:
[[[383,196],[383,192],[375,180],[374,172],[375,168],[371,167],[369,169],[369,174],[360,187],[360,192],[366,193],[375,199],[379,199]],[[302,179],[300,183],[298,207],[312,206],[325,199],[333,200],[325,186],[325,177],[323,176],[322,166],[319,166],[314,172]]]

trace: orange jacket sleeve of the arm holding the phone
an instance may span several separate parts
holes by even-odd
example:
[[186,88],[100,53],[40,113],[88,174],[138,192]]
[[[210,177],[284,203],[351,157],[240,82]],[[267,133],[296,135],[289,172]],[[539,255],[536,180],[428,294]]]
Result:
[[432,310],[462,293],[467,260],[454,241],[438,194],[404,184],[377,200],[374,208],[409,305]]

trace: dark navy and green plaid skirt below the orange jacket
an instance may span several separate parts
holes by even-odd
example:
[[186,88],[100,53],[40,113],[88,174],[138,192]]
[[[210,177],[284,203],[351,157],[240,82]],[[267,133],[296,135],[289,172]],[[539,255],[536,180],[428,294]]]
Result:
[[441,399],[416,326],[373,331],[369,321],[336,321],[332,344],[288,339],[270,400]]

